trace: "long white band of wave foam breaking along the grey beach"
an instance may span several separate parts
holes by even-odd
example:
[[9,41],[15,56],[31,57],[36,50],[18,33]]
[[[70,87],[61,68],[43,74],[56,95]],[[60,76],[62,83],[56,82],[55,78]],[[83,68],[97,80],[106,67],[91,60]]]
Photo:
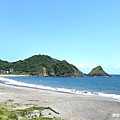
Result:
[[52,90],[52,91],[72,93],[72,94],[100,96],[100,97],[104,97],[104,98],[120,100],[120,95],[116,95],[116,94],[106,94],[106,93],[101,93],[101,92],[90,92],[90,91],[79,91],[79,90],[67,89],[67,88],[54,88],[54,87],[50,87],[50,86],[18,82],[18,81],[8,79],[8,78],[3,78],[3,77],[0,77],[0,81],[4,82],[5,84],[9,84],[9,85],[16,85],[16,86],[22,86],[22,87],[44,89],[44,90]]

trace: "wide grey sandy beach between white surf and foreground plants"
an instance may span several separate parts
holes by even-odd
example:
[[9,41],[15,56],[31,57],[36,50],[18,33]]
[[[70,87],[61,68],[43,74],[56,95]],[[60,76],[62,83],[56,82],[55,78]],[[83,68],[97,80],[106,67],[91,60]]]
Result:
[[65,120],[120,120],[120,101],[0,83],[0,102],[49,106]]

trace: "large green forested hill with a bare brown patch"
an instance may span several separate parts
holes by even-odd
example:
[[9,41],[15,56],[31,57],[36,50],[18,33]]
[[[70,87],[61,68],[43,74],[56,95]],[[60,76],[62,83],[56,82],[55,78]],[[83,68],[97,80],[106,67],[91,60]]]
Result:
[[66,60],[60,61],[40,54],[12,63],[0,60],[0,72],[37,76],[84,76]]

